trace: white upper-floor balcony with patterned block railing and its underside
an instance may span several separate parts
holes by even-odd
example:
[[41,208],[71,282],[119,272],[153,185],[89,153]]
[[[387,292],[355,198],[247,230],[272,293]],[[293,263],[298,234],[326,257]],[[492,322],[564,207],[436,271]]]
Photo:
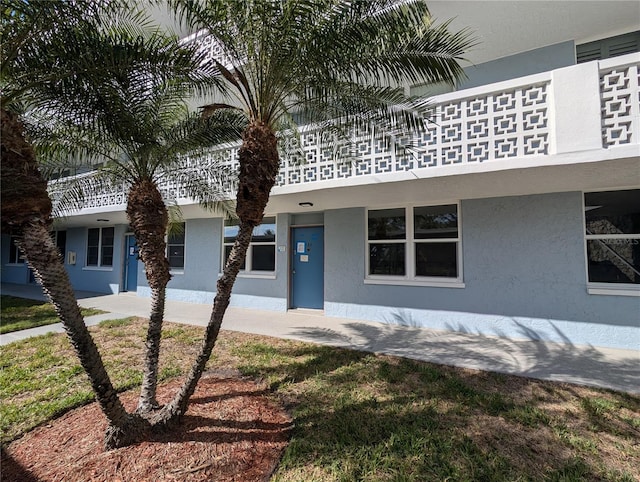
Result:
[[[303,158],[284,158],[269,212],[533,194],[640,185],[640,54],[588,62],[433,98],[429,129],[391,140],[354,130],[356,161],[336,157],[323,132],[309,126],[287,138]],[[299,142],[299,145],[294,145]],[[393,143],[411,143],[398,155]],[[192,169],[222,160],[238,166],[239,145],[190,159]],[[90,183],[90,174],[85,182]],[[61,183],[52,183],[55,192]],[[183,207],[179,177],[161,186]],[[126,186],[93,190],[66,223],[98,213],[123,215]],[[232,186],[228,188],[233,193]],[[200,214],[202,215],[202,214]],[[122,220],[126,223],[126,221]]]

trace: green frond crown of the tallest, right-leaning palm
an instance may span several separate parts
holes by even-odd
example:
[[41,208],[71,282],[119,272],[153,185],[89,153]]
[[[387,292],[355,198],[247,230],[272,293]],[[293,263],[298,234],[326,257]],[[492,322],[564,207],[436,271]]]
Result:
[[420,128],[415,102],[394,89],[455,83],[474,43],[469,31],[435,25],[421,0],[169,4],[208,33],[214,62],[224,63],[217,78],[236,92],[248,118],[272,126],[304,107],[302,118],[312,122],[382,122],[386,115],[389,125]]

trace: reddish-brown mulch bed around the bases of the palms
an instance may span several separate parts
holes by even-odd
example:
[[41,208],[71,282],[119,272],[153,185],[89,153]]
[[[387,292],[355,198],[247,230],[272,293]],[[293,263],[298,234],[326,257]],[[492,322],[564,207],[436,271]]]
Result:
[[[191,398],[182,425],[153,440],[105,452],[106,421],[96,403],[80,407],[26,434],[2,453],[9,481],[263,481],[286,447],[291,417],[265,388],[226,374],[207,374]],[[158,388],[166,403],[180,386]],[[138,392],[121,395],[135,409]]]

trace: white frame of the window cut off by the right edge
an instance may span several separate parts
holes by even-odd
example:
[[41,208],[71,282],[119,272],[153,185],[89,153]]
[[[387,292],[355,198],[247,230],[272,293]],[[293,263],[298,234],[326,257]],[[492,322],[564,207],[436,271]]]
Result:
[[640,284],[633,283],[613,283],[605,281],[590,281],[589,280],[589,250],[588,242],[590,240],[598,239],[633,239],[640,243],[640,233],[633,234],[587,234],[587,204],[586,195],[596,194],[602,192],[618,192],[618,191],[632,191],[640,189],[639,187],[630,189],[600,189],[582,191],[582,236],[584,238],[584,264],[585,264],[585,281],[587,286],[587,293],[590,295],[614,295],[614,296],[637,296],[640,297]]

